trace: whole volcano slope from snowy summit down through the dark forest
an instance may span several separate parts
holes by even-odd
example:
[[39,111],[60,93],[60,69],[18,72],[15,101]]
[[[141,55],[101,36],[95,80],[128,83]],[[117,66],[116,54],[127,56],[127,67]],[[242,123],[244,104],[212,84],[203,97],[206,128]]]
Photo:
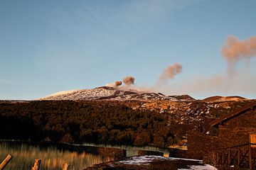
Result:
[[188,130],[207,132],[210,120],[253,101],[233,98],[110,87],[64,91],[36,101],[0,101],[0,132],[4,139],[169,147]]

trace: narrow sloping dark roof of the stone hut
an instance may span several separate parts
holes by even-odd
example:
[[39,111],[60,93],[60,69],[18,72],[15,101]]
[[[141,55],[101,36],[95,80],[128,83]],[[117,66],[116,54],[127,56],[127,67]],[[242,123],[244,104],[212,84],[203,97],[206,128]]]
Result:
[[212,122],[210,122],[211,126],[215,126],[215,125],[219,125],[220,123],[226,122],[232,118],[235,118],[238,115],[241,115],[242,113],[246,113],[247,111],[252,110],[253,108],[256,108],[256,102],[255,103],[250,103],[247,106],[244,106],[240,109],[238,109],[237,111],[230,113],[228,115],[224,115],[221,118],[217,119],[217,120],[213,120]]

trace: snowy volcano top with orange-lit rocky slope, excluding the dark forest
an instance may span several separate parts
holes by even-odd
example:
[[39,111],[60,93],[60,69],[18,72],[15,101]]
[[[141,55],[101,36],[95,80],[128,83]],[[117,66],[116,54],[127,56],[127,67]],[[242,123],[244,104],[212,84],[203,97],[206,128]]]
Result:
[[115,105],[121,103],[134,110],[155,111],[168,115],[168,125],[207,125],[210,120],[231,113],[253,100],[240,96],[211,96],[196,100],[188,95],[166,96],[161,93],[135,91],[117,87],[97,87],[60,91],[39,100],[92,101]]

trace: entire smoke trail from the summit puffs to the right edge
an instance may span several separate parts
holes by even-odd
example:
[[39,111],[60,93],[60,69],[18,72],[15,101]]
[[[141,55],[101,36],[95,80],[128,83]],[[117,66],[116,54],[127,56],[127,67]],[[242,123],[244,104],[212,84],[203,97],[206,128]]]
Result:
[[[174,82],[170,86],[170,84],[167,84],[167,81],[181,74],[183,69],[181,64],[175,63],[163,69],[158,81],[153,86],[139,86],[139,91],[161,91],[164,94],[196,95],[238,95],[239,91],[244,91],[246,94],[256,93],[256,74],[252,72],[252,68],[235,70],[234,67],[235,63],[240,62],[240,60],[247,59],[250,62],[250,58],[256,55],[256,36],[252,36],[247,40],[239,40],[233,35],[228,35],[221,52],[228,62],[229,72],[215,73],[208,77],[194,76]],[[134,77],[125,77],[123,82],[126,86],[120,88],[130,88],[134,81]],[[114,86],[120,85],[115,83]],[[138,89],[138,86],[132,86],[132,88]]]

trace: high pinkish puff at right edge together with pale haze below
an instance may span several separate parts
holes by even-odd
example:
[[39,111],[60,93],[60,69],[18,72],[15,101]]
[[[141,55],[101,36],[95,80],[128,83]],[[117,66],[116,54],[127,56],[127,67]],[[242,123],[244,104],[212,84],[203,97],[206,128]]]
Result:
[[[228,35],[222,47],[222,55],[228,62],[227,71],[216,73],[208,77],[191,77],[184,79],[171,87],[175,94],[232,94],[237,95],[238,91],[246,94],[256,93],[256,74],[253,68],[235,68],[235,64],[241,60],[250,62],[256,55],[256,36],[247,40],[239,40],[233,35]],[[165,86],[162,91],[169,91],[170,87]]]

